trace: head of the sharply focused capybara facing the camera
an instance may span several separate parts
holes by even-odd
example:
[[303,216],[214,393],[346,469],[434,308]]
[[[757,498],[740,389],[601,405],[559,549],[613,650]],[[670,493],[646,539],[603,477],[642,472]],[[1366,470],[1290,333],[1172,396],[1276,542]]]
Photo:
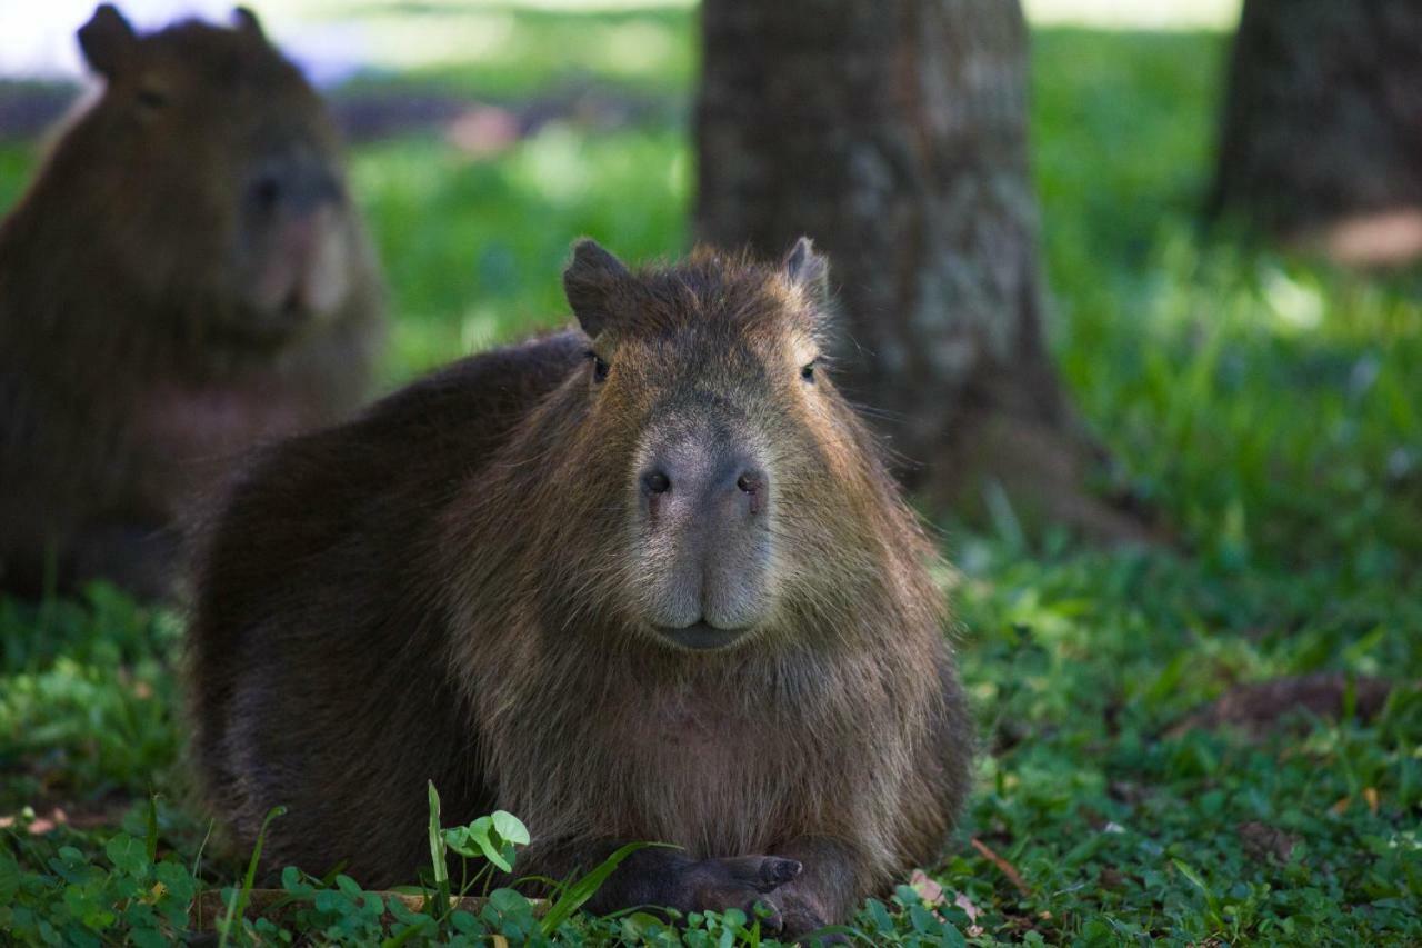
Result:
[[816,609],[832,633],[897,501],[825,372],[809,241],[778,269],[697,251],[640,273],[583,241],[565,289],[589,337],[576,493],[614,564],[586,598],[681,649],[816,628]]

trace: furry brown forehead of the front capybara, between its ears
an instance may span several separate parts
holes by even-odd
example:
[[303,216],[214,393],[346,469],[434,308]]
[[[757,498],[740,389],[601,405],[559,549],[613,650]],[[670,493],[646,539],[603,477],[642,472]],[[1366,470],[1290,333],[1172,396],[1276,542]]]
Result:
[[675,266],[638,270],[634,292],[616,309],[620,340],[658,349],[677,340],[702,356],[793,344],[812,337],[819,322],[776,270],[705,248]]

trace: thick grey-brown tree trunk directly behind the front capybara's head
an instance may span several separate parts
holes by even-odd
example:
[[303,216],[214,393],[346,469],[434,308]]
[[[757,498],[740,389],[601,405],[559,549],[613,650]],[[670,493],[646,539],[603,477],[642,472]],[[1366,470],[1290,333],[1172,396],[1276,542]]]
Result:
[[[705,0],[697,236],[830,258],[870,406],[906,485],[1095,535],[1136,521],[1084,490],[1101,458],[1042,339],[1017,0]],[[880,414],[882,413],[882,414]]]

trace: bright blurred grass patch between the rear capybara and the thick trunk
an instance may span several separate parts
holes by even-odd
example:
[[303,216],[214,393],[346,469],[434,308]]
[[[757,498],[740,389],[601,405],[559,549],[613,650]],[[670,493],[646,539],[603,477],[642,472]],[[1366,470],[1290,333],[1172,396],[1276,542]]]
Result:
[[552,124],[493,158],[437,138],[363,149],[354,191],[398,315],[388,377],[567,322],[560,273],[590,235],[627,259],[684,249],[681,135]]

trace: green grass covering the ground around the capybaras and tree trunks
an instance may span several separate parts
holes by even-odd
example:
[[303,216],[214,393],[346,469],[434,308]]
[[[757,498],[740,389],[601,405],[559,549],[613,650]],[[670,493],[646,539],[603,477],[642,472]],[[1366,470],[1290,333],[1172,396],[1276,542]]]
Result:
[[[579,14],[540,16],[577,38]],[[690,36],[688,13],[656,16]],[[1261,739],[1169,730],[1239,682],[1422,678],[1418,286],[1200,229],[1223,48],[1214,34],[1038,33],[1054,352],[1182,549],[1092,549],[1001,508],[987,525],[943,525],[985,753],[930,881],[855,920],[873,942],[1422,939],[1422,697]],[[687,67],[657,68],[607,81],[687,91]],[[502,75],[508,97],[563,81],[556,64]],[[577,233],[629,258],[677,253],[690,161],[665,122],[553,122],[483,158],[434,134],[358,149],[354,189],[398,313],[387,383],[560,322],[557,269]],[[26,149],[0,149],[0,205],[31,167]],[[242,878],[245,854],[203,850],[206,824],[185,806],[179,639],[176,616],[102,589],[0,601],[0,814],[18,817],[0,831],[0,929],[13,938],[158,944],[201,888]],[[36,834],[36,820],[58,826]],[[434,920],[351,880],[283,883],[296,917],[233,938],[547,937],[508,892]],[[646,915],[573,915],[552,937],[671,938]],[[729,912],[685,935],[757,938],[755,920]]]

